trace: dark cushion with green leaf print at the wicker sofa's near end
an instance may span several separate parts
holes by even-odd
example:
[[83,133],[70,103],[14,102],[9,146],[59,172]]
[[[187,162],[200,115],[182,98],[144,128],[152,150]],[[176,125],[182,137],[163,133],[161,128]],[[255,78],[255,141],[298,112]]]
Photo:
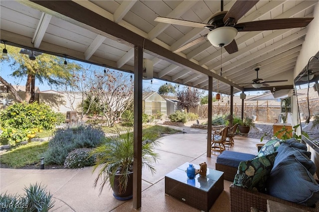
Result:
[[273,168],[278,152],[255,157],[252,160],[241,161],[235,175],[234,185],[265,192],[267,177]]

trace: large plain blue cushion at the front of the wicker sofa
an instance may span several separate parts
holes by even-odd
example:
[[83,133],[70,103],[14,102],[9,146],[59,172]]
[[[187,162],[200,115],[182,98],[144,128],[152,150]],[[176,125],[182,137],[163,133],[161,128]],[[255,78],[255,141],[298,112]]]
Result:
[[319,201],[319,185],[295,155],[280,161],[267,180],[271,196],[290,202],[313,206]]

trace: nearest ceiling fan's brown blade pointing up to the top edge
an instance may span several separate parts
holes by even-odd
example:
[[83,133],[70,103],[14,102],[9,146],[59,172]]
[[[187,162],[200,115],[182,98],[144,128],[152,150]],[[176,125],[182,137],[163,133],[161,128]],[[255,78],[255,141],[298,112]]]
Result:
[[234,5],[228,10],[225,17],[223,18],[223,22],[226,23],[228,18],[233,18],[234,23],[248,12],[259,0],[237,0]]

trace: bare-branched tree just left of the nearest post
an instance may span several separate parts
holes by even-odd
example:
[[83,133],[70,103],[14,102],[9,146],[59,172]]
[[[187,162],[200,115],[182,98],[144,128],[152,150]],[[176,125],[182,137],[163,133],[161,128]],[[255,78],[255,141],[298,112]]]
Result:
[[[129,83],[128,83],[129,82]],[[73,75],[71,84],[63,88],[72,108],[78,109],[81,119],[95,114],[94,118],[113,127],[134,99],[133,81],[122,71],[106,70],[105,73],[83,69]],[[74,98],[82,98],[80,105],[73,105]]]

